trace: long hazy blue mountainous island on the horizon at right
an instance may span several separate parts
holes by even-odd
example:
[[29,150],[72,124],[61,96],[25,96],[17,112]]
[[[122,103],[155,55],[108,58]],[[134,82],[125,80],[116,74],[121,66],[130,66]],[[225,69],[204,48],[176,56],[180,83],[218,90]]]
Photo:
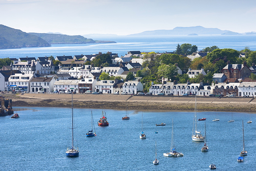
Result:
[[[252,33],[252,32],[250,32]],[[218,28],[205,28],[202,26],[194,27],[175,27],[172,30],[152,30],[141,33],[130,34],[128,36],[156,36],[156,35],[233,35],[239,34],[230,30],[220,30]],[[256,34],[256,33],[255,33]]]

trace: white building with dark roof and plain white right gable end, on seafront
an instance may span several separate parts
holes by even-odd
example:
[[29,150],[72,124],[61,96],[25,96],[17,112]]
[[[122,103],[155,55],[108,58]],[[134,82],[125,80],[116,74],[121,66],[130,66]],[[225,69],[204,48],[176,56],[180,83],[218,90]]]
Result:
[[53,92],[55,79],[46,77],[36,77],[30,81],[30,91],[37,92],[42,90],[44,92]]

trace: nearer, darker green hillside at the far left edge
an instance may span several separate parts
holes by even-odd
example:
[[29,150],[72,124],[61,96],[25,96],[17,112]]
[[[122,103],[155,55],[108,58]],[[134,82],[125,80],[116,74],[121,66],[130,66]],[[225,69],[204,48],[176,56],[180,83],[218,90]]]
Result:
[[0,24],[0,49],[49,47],[44,39]]

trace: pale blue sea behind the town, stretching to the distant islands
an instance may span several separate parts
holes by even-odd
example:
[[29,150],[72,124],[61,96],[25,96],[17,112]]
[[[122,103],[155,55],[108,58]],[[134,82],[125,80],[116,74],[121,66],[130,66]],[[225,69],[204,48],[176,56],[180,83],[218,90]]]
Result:
[[0,58],[44,57],[44,56],[74,56],[106,53],[118,53],[124,56],[127,51],[141,52],[172,52],[177,44],[189,43],[197,45],[201,50],[205,47],[218,46],[219,48],[244,49],[248,46],[256,50],[256,35],[199,35],[199,36],[117,36],[117,37],[90,37],[94,40],[111,40],[111,44],[66,44],[52,45],[51,47],[0,49]]

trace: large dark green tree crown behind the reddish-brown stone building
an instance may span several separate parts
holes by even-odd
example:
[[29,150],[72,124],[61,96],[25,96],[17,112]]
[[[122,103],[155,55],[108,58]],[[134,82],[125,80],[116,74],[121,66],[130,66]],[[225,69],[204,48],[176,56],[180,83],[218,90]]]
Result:
[[206,58],[209,62],[213,62],[216,59],[226,57],[232,64],[236,63],[236,58],[239,56],[239,52],[234,49],[215,49],[208,53]]

